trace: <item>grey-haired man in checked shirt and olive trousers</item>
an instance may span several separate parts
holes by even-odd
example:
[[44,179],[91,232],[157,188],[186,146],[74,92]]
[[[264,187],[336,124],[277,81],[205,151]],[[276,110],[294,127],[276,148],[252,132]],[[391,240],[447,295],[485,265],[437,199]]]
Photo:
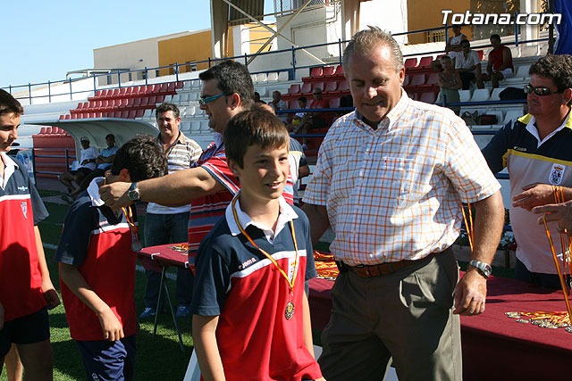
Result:
[[[401,89],[390,34],[358,32],[343,67],[356,112],[328,131],[304,195],[312,239],[332,226],[341,269],[322,335],[324,377],[379,379],[392,358],[401,381],[460,380],[458,315],[484,311],[501,186],[463,120]],[[450,245],[461,203],[475,205],[475,244],[458,280]]]

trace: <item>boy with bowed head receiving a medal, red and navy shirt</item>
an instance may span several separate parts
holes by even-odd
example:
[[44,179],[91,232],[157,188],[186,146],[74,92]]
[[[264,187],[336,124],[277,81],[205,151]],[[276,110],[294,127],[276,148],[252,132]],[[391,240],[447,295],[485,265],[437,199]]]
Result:
[[115,153],[106,178],[94,178],[71,205],[55,253],[71,338],[89,380],[133,378],[135,260],[140,249],[135,205],[114,211],[99,197],[105,182],[164,176],[163,148],[151,136],[131,139]]

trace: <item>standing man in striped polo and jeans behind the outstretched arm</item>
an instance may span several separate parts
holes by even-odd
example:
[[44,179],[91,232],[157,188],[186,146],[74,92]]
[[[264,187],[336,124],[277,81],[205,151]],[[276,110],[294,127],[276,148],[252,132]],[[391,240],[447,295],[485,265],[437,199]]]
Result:
[[[163,145],[169,164],[169,173],[178,170],[187,170],[197,162],[203,150],[189,137],[185,137],[179,129],[181,116],[175,104],[160,104],[156,109],[157,127],[159,136],[157,140]],[[190,204],[169,207],[158,203],[147,205],[145,218],[145,245],[178,244],[187,242],[187,223],[189,221]],[[147,286],[145,288],[145,310],[140,318],[149,318],[156,314],[157,299],[161,274],[153,269],[147,269]],[[176,296],[179,306],[177,317],[189,315],[189,304],[193,292],[193,275],[185,269],[177,271]],[[159,306],[159,311],[163,306]]]

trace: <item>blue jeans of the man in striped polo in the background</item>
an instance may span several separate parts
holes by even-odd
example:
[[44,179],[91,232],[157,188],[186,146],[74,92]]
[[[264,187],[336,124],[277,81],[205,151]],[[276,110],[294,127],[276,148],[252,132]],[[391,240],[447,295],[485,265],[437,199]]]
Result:
[[[145,245],[156,246],[158,244],[180,244],[187,242],[187,226],[189,224],[189,211],[176,214],[152,214],[145,217]],[[159,285],[161,273],[146,270],[147,286],[145,286],[145,307],[156,308],[159,297]],[[193,295],[193,274],[186,269],[177,269],[176,297],[179,304],[190,304]],[[159,310],[163,310],[164,297],[161,298]]]

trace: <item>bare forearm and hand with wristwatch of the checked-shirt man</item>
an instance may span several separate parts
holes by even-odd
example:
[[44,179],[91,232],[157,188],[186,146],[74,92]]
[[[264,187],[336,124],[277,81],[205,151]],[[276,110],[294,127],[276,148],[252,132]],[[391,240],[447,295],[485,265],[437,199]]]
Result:
[[[497,191],[475,203],[474,249],[471,260],[491,264],[501,240],[504,224],[504,205],[501,192]],[[484,312],[486,279],[473,267],[458,281],[455,289],[455,310],[461,315],[478,315]]]

